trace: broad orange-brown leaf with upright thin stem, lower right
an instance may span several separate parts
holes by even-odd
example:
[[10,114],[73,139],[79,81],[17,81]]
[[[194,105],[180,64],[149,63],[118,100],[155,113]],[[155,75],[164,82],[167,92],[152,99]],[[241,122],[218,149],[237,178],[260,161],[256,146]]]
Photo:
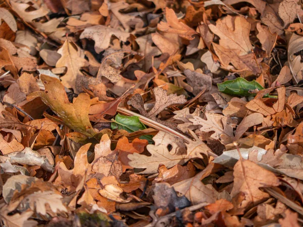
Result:
[[[256,174],[258,173],[258,174]],[[262,168],[255,162],[240,158],[234,166],[234,185],[230,193],[234,198],[244,193],[245,198],[238,204],[239,208],[256,206],[270,196],[261,191],[261,187],[272,187],[280,184],[279,179],[272,172]]]

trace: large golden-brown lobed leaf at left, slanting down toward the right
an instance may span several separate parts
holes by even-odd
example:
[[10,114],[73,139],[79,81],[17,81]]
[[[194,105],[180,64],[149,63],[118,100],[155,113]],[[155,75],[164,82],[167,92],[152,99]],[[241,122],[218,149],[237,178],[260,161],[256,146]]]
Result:
[[88,137],[93,137],[96,132],[88,119],[90,106],[89,95],[81,93],[70,103],[64,86],[59,79],[41,75],[45,91],[37,91],[27,96],[28,99],[41,97],[42,101],[62,119],[69,128]]

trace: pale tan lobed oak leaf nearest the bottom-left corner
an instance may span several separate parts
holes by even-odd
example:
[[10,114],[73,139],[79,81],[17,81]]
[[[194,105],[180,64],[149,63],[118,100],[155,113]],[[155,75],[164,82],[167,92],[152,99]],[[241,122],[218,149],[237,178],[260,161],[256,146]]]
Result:
[[45,215],[46,204],[54,212],[58,211],[67,212],[67,208],[62,203],[63,196],[61,194],[55,193],[54,191],[45,192],[34,192],[26,197],[24,205],[28,205],[31,210],[35,210],[37,213]]

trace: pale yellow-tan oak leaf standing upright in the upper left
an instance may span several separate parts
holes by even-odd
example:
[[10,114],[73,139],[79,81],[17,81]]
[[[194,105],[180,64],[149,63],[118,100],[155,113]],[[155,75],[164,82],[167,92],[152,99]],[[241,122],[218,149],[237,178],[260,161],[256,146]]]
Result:
[[87,66],[88,62],[81,58],[77,46],[66,40],[62,46],[60,54],[61,58],[56,63],[56,67],[66,67],[67,72],[63,77],[61,77],[62,84],[67,88],[73,88],[75,93],[78,93],[76,88],[76,81],[82,76],[82,73],[79,71],[81,67]]

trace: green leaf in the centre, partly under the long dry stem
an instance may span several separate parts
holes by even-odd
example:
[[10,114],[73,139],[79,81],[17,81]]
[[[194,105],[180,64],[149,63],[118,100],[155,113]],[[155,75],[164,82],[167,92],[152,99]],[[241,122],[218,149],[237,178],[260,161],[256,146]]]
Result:
[[[136,132],[139,130],[146,129],[146,126],[140,122],[139,118],[136,116],[127,117],[124,115],[116,115],[115,120],[112,120],[111,128],[112,129],[124,129],[129,133]],[[149,143],[153,143],[153,136],[141,136],[140,139],[148,140]]]

